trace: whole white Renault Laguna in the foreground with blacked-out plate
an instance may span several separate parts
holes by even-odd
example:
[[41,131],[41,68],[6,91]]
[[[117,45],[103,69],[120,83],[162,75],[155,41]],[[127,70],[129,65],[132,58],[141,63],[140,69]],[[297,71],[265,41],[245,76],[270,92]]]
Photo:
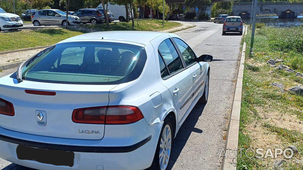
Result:
[[170,33],[63,40],[0,78],[0,157],[41,170],[166,170],[172,139],[208,100],[211,61]]

